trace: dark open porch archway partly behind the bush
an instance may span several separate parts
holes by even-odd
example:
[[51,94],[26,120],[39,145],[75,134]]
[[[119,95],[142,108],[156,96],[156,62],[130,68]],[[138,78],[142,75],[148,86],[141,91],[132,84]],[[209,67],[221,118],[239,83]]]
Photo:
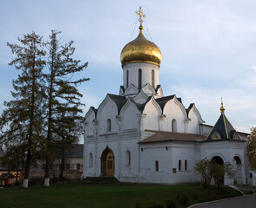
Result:
[[214,156],[212,159],[211,159],[211,162],[213,163],[213,172],[214,173],[214,185],[224,185],[224,167],[223,167],[223,164],[224,164],[224,161],[222,158],[220,158],[219,156]]

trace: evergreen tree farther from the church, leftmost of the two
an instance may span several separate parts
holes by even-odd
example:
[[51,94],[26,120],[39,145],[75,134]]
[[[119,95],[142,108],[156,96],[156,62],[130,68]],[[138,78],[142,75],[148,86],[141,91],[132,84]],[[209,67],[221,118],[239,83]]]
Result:
[[0,118],[0,142],[5,146],[19,144],[26,154],[24,188],[28,188],[30,162],[37,152],[42,140],[45,55],[42,37],[35,32],[18,38],[20,44],[10,44],[11,52],[16,57],[10,62],[21,71],[17,80],[13,81],[13,100],[4,101],[3,114]]

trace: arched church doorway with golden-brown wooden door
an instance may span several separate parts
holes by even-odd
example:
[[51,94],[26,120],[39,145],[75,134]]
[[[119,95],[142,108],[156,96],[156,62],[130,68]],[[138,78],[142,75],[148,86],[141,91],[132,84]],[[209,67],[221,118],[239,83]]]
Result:
[[107,146],[101,154],[101,175],[113,176],[115,172],[115,157],[111,148]]

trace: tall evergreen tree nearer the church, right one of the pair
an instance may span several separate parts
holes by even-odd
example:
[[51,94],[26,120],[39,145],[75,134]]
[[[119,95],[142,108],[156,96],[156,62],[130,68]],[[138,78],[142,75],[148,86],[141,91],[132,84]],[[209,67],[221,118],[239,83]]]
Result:
[[47,47],[49,74],[47,74],[47,136],[45,146],[45,175],[44,186],[50,185],[50,165],[53,160],[52,146],[57,141],[61,144],[71,144],[77,140],[74,129],[77,127],[77,120],[81,120],[80,108],[83,104],[80,98],[83,96],[78,92],[77,86],[89,79],[75,79],[74,74],[81,72],[87,67],[88,62],[81,64],[72,58],[75,52],[73,42],[61,44],[57,40],[60,32],[51,31],[50,42]]

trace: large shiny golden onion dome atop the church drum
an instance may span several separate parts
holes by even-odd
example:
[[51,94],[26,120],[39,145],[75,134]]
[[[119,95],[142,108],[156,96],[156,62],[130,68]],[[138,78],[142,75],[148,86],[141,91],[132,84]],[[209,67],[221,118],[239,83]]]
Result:
[[142,33],[143,27],[139,26],[138,37],[127,43],[121,51],[122,67],[130,62],[150,62],[160,66],[161,51],[154,42],[148,41]]

